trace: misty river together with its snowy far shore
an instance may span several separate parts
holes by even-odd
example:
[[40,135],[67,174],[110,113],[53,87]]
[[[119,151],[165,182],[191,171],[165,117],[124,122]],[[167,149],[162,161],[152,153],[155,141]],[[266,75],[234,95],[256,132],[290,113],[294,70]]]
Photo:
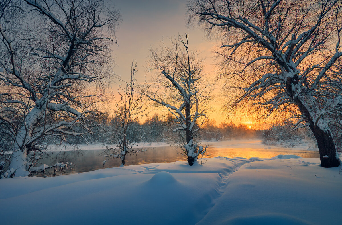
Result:
[[[147,163],[166,163],[175,161],[185,161],[186,157],[177,153],[175,147],[169,146],[166,143],[153,143],[155,146],[146,145],[140,146],[147,149],[145,152],[141,152],[135,155],[126,156],[126,166],[147,164]],[[317,149],[310,148],[307,145],[296,146],[296,148],[284,148],[278,146],[268,146],[261,144],[260,140],[234,140],[224,142],[206,142],[203,144],[209,145],[207,148],[207,155],[203,156],[203,162],[205,158],[213,158],[217,156],[223,156],[227,158],[272,158],[280,154],[298,155],[303,158],[319,158]],[[56,162],[56,156],[60,158],[59,162],[64,161],[65,157],[69,162],[73,162],[74,167],[71,171],[66,173],[79,173],[98,170],[107,167],[120,166],[119,159],[110,159],[103,167],[103,149],[102,145],[88,145],[80,146],[79,155],[75,154],[75,151],[54,151],[50,154],[48,159],[43,160],[43,163],[52,165]],[[70,149],[67,149],[70,150]],[[61,157],[61,155],[63,157]],[[62,158],[62,159],[61,159]],[[199,159],[201,162],[201,159]],[[50,171],[51,173],[51,171]],[[49,175],[47,173],[47,175]]]

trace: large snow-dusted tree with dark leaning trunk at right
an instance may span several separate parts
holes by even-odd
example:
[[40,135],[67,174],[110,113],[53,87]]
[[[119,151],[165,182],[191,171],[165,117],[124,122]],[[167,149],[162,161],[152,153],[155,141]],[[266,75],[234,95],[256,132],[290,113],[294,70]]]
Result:
[[[194,0],[189,22],[222,38],[228,106],[291,113],[317,140],[322,167],[340,164],[331,121],[341,104],[341,0]],[[251,104],[249,104],[251,103]],[[341,124],[339,124],[341,126]]]

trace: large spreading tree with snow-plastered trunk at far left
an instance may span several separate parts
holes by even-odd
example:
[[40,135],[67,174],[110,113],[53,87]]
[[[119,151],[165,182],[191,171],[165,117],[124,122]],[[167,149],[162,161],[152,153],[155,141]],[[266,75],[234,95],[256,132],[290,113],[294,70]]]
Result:
[[102,0],[0,2],[0,132],[7,176],[27,176],[48,135],[82,135],[103,101],[118,11]]

